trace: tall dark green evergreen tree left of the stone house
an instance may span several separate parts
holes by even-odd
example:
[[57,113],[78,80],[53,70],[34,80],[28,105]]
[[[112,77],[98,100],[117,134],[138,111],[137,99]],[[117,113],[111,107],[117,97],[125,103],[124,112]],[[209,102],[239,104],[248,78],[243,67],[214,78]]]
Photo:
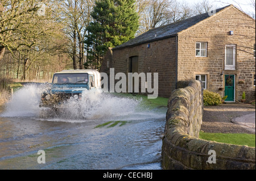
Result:
[[[97,0],[91,15],[94,20],[87,28],[85,41],[87,60],[99,68],[109,47],[133,39],[139,27],[139,16],[135,10],[135,0]],[[86,68],[88,63],[84,66]]]

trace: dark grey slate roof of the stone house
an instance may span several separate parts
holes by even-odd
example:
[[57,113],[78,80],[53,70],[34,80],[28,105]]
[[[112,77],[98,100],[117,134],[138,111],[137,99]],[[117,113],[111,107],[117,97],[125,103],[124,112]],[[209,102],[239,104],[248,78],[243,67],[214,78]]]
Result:
[[[229,5],[229,6],[232,6],[232,5]],[[225,6],[220,9],[217,9],[216,12],[219,12],[229,6]],[[165,26],[161,26],[158,28],[153,28],[153,29],[148,30],[147,32],[143,33],[142,35],[139,35],[139,36],[135,37],[134,39],[127,41],[126,43],[118,45],[117,47],[115,47],[113,49],[133,47],[135,45],[147,43],[150,41],[155,41],[155,40],[175,36],[178,32],[183,31],[189,27],[192,27],[196,23],[199,23],[202,20],[207,19],[207,18],[209,18],[208,12],[206,12],[204,14],[193,16],[188,19],[181,20],[179,22],[167,24]]]

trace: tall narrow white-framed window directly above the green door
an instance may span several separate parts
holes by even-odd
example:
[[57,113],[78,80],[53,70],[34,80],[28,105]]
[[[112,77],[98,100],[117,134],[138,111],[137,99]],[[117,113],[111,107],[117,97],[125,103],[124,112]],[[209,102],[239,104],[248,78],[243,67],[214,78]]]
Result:
[[236,45],[225,47],[225,70],[236,70]]

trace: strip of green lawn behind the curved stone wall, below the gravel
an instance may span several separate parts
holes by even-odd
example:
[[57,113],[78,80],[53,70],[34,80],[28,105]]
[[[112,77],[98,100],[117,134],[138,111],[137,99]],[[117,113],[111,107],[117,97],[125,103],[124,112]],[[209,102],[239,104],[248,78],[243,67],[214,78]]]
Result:
[[199,138],[208,141],[224,142],[227,144],[247,145],[255,147],[255,134],[200,132]]

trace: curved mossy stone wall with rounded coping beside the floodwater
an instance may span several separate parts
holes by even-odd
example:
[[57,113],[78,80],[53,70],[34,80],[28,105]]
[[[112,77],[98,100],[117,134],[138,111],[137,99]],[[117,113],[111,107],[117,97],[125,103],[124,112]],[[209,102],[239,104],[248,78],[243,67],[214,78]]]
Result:
[[[162,146],[163,169],[255,169],[255,148],[201,140],[203,99],[199,81],[172,92]],[[209,151],[215,151],[216,157]],[[216,163],[212,163],[216,158]]]

